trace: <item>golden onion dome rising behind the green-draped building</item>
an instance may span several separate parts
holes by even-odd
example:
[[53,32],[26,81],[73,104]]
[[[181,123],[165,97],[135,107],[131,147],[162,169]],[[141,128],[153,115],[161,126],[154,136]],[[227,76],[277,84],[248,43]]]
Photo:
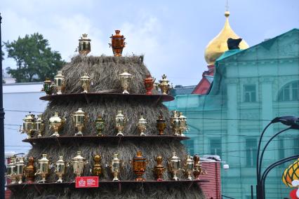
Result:
[[[230,12],[226,11],[225,12],[226,21],[224,27],[222,28],[220,33],[208,43],[208,46],[206,46],[206,50],[204,52],[204,58],[206,59],[208,65],[214,64],[215,60],[217,60],[218,57],[222,55],[222,53],[228,50],[227,39],[240,38],[237,34],[234,33],[234,31],[230,27],[230,23],[228,22],[229,16],[230,16]],[[239,45],[239,48],[246,49],[249,48],[249,46],[246,43],[246,41],[242,40]]]

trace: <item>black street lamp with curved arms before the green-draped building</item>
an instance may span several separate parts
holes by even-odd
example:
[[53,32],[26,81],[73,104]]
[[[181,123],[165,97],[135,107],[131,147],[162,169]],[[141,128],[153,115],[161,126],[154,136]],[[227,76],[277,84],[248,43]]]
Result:
[[[283,123],[284,125],[288,125],[290,127],[286,128],[284,130],[281,130],[281,131],[277,132],[275,135],[273,135],[270,138],[270,140],[267,142],[267,144],[265,144],[263,151],[261,153],[261,156],[260,156],[260,145],[262,143],[263,135],[265,134],[267,128],[269,128],[269,126],[272,123]],[[258,151],[257,151],[257,156],[256,156],[256,181],[257,181],[256,196],[258,199],[263,199],[265,196],[263,194],[265,191],[263,183],[265,184],[265,181],[263,181],[263,178],[261,178],[262,162],[263,162],[263,155],[265,153],[265,150],[266,150],[267,146],[270,144],[270,142],[272,141],[272,139],[274,139],[274,137],[277,137],[277,135],[279,135],[282,132],[285,132],[286,130],[289,130],[289,129],[299,129],[299,118],[294,117],[294,116],[283,116],[283,117],[274,118],[270,123],[267,124],[267,126],[263,129],[262,134],[260,135],[260,139],[258,142]],[[287,158],[285,158],[285,159],[287,159]],[[277,163],[279,163],[279,161]],[[282,164],[282,163],[280,163],[280,164]],[[263,173],[263,177],[267,177],[267,174],[265,174],[265,172]]]

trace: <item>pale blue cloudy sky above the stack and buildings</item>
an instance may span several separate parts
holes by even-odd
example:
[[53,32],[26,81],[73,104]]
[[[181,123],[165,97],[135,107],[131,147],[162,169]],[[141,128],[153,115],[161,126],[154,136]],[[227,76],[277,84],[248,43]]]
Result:
[[[13,1],[1,0],[2,39],[39,32],[66,61],[79,36],[88,34],[92,55],[112,55],[114,29],[126,36],[123,55],[145,55],[152,75],[174,85],[196,85],[206,70],[204,49],[225,22],[225,0]],[[249,46],[299,27],[298,0],[229,0],[230,25]],[[4,68],[14,67],[10,59]]]

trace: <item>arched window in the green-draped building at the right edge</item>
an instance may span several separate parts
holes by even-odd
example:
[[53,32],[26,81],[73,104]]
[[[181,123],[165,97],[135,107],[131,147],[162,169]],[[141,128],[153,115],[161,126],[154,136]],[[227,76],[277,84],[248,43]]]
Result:
[[279,90],[279,101],[298,101],[299,100],[299,81],[293,81],[284,85]]

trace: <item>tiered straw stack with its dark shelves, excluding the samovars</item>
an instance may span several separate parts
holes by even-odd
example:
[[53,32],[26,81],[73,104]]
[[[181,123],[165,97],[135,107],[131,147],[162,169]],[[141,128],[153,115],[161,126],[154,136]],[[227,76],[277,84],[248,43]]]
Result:
[[[128,91],[130,94],[121,94],[119,74],[124,69],[133,74]],[[79,82],[80,76],[85,73],[91,77],[92,85],[90,93],[81,94],[82,87]],[[28,157],[34,157],[37,161],[46,153],[51,163],[55,163],[59,156],[69,162],[81,151],[81,156],[88,163],[84,167],[81,176],[92,176],[91,169],[94,165],[93,157],[100,154],[102,174],[100,175],[98,188],[75,188],[74,171],[72,166],[66,168],[62,183],[55,183],[58,179],[53,168],[46,178],[46,183],[41,184],[41,179],[36,176],[34,183],[8,185],[13,191],[12,198],[46,198],[52,195],[54,198],[204,198],[199,180],[188,181],[182,172],[178,174],[180,181],[172,181],[171,173],[164,172],[164,181],[157,181],[152,168],[157,165],[154,158],[157,155],[163,157],[164,167],[167,168],[166,160],[171,157],[173,151],[183,159],[187,155],[185,147],[180,143],[187,137],[175,137],[171,131],[170,114],[162,104],[170,100],[170,96],[162,96],[153,90],[153,95],[145,95],[144,79],[150,72],[143,64],[142,56],[131,57],[93,57],[76,56],[62,68],[65,76],[65,90],[62,95],[41,97],[49,100],[48,107],[44,111],[45,130],[43,137],[25,139],[24,142],[32,144]],[[170,98],[169,98],[170,97]],[[77,130],[72,121],[72,113],[79,108],[88,114],[88,120],[83,130],[83,137],[74,137]],[[124,128],[124,137],[117,137],[115,128],[115,116],[117,111],[123,111],[127,122]],[[51,137],[53,130],[48,128],[48,118],[58,111],[60,116],[66,118],[60,137]],[[101,115],[105,119],[103,137],[96,136],[95,120]],[[139,136],[136,126],[140,115],[147,120],[147,136]],[[164,136],[159,136],[156,128],[157,118],[162,115],[166,120],[167,127]],[[145,181],[135,181],[130,160],[137,151],[149,160],[145,174]],[[111,163],[114,153],[124,160],[124,169],[119,174],[120,181],[112,181],[110,170],[105,167]]]

